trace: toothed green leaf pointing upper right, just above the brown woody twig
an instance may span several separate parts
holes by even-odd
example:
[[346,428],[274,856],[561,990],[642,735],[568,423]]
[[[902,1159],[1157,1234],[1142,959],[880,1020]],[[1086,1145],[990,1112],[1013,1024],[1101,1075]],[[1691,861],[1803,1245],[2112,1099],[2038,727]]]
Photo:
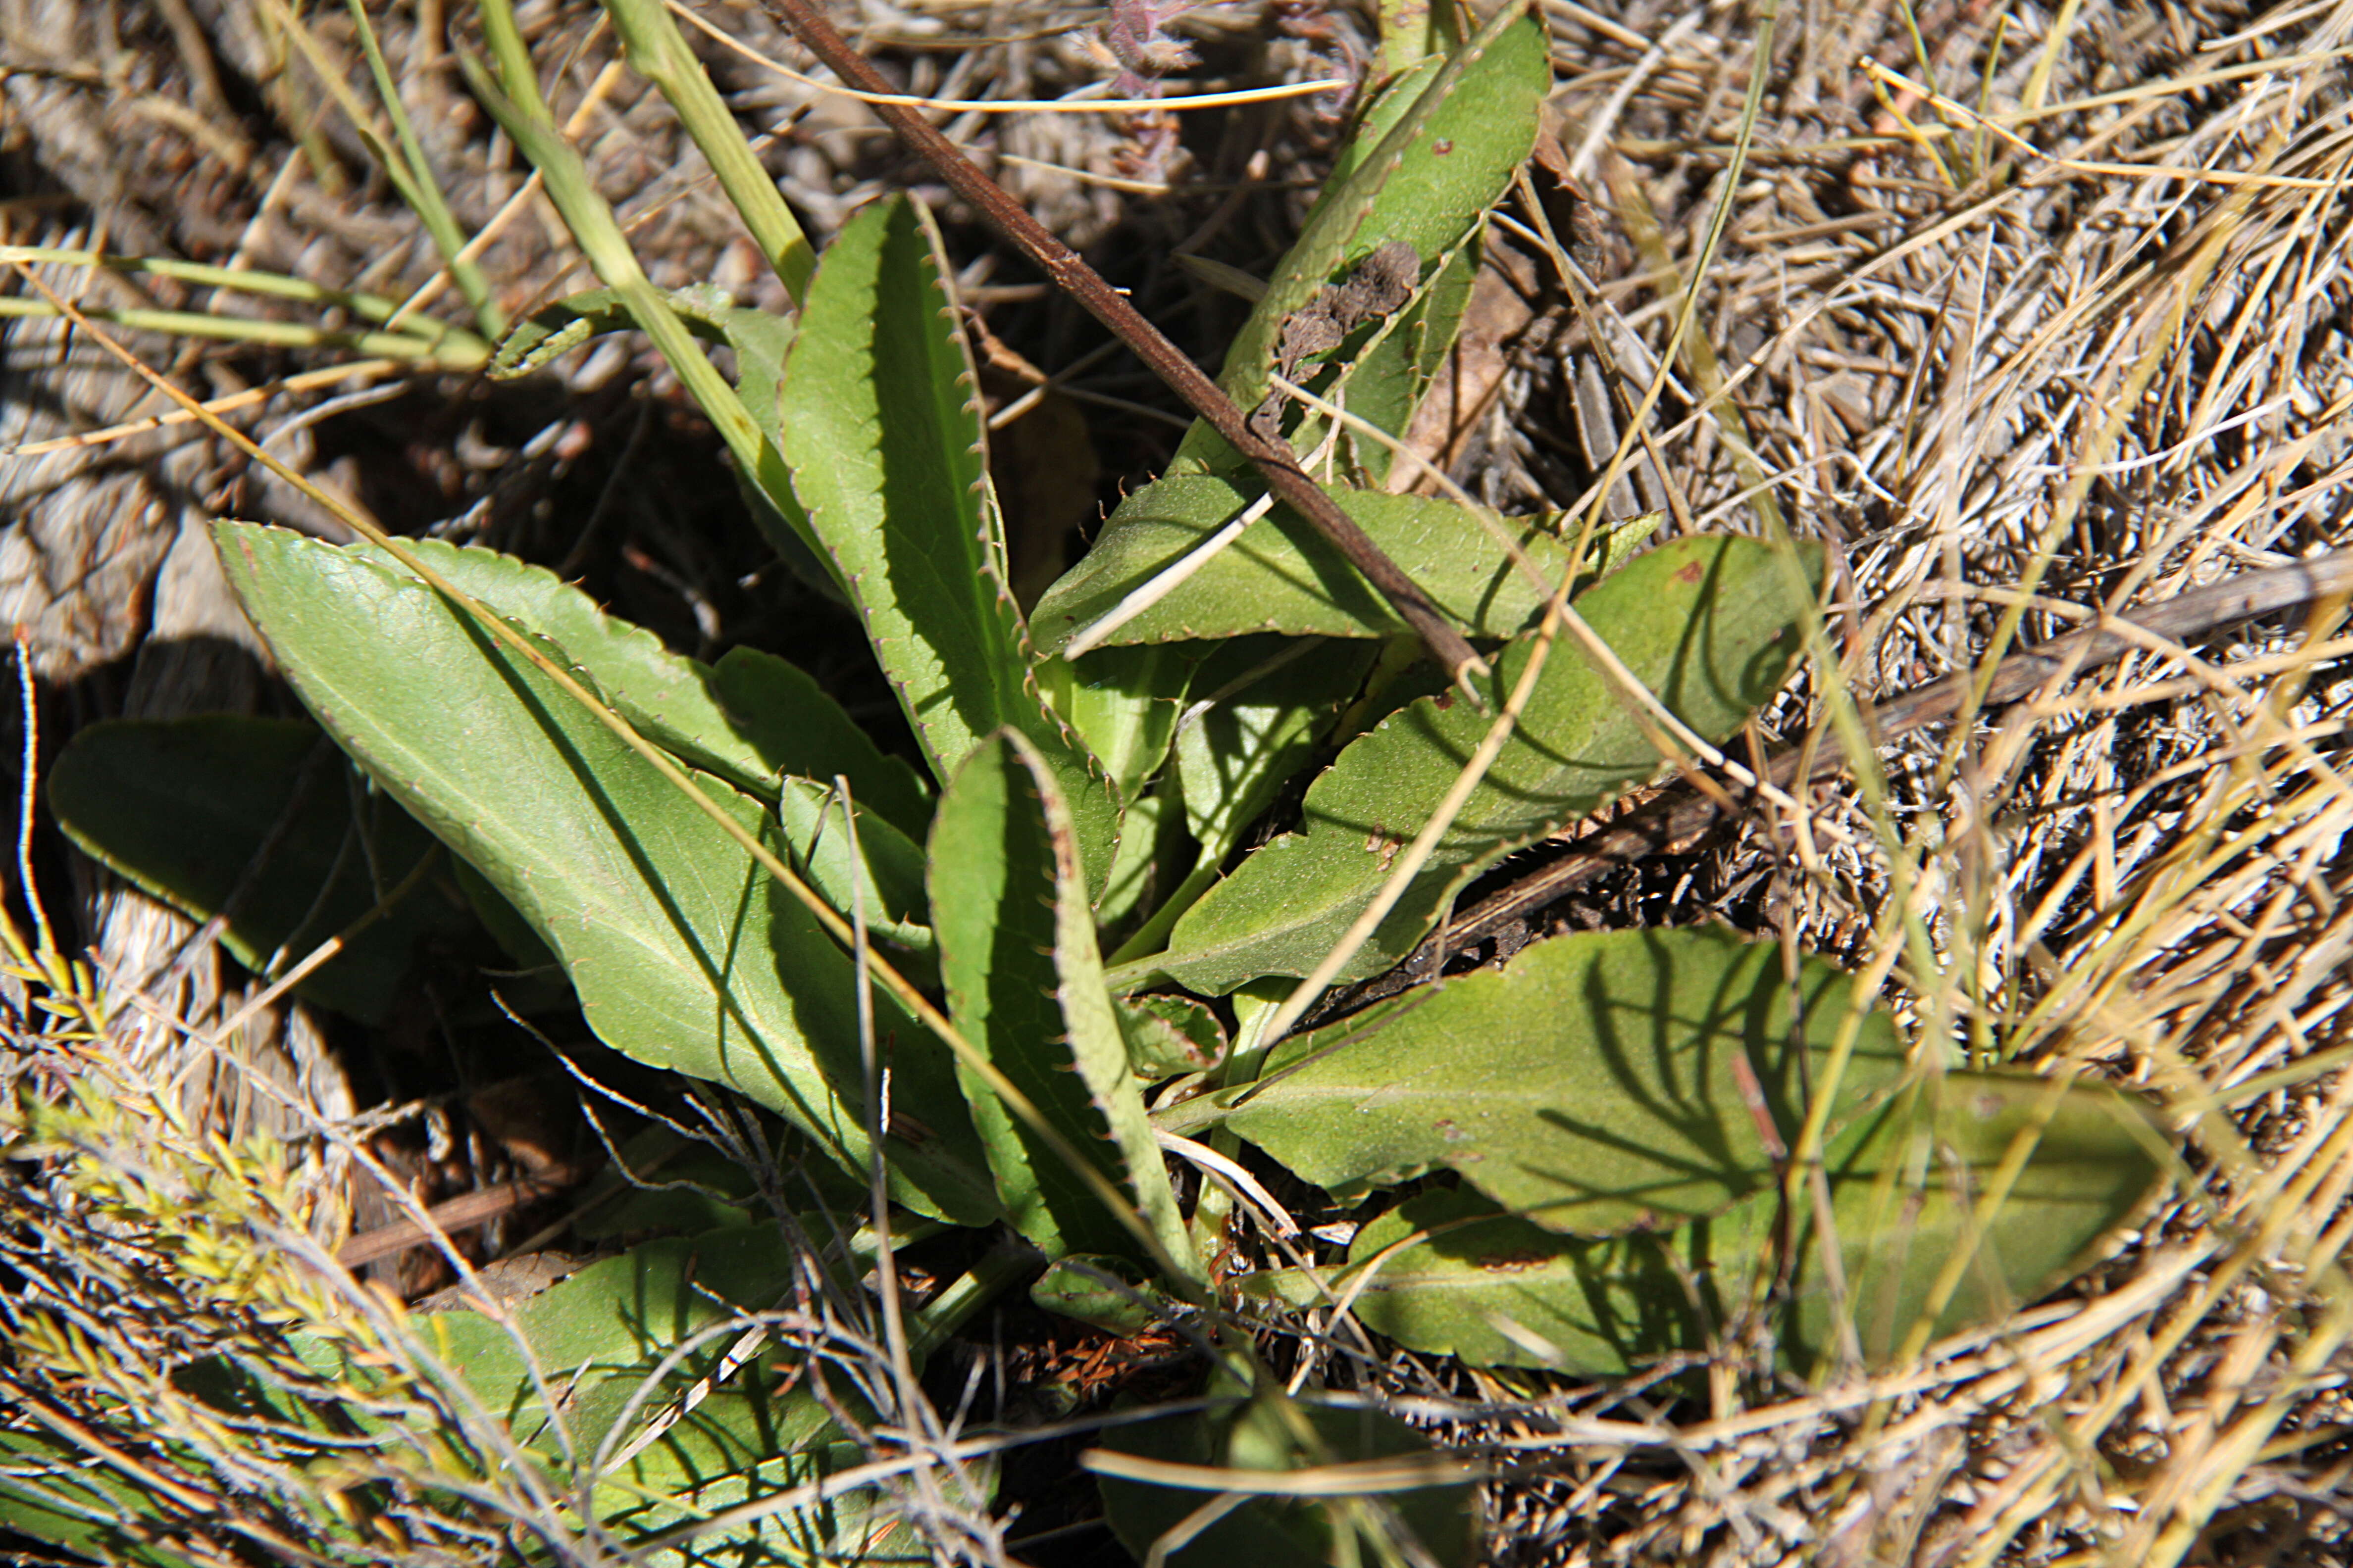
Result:
[[[1821,550],[1800,550],[1807,574],[1819,574]],[[1727,741],[1779,689],[1802,611],[1772,550],[1753,538],[1675,538],[1581,595],[1577,609],[1626,670],[1711,743]],[[1529,646],[1506,649],[1501,691]],[[1308,973],[1388,879],[1398,849],[1454,788],[1487,726],[1489,715],[1440,693],[1358,738],[1308,790],[1306,825],[1214,886],[1176,924],[1158,969],[1205,992]],[[1518,731],[1339,978],[1388,969],[1473,875],[1657,773],[1652,729],[1657,719],[1638,717],[1633,698],[1581,649],[1553,649]]]

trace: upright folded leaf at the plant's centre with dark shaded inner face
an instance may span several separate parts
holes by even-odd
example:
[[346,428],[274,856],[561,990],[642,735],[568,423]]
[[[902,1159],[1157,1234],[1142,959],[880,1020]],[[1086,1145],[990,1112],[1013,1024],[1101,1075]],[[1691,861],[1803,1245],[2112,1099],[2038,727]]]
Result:
[[[984,741],[939,802],[932,922],[955,1027],[1134,1204],[1169,1260],[1198,1274],[1104,985],[1071,809],[1019,733]],[[1134,1258],[1136,1237],[1064,1152],[979,1074],[958,1070],[998,1197],[1021,1234],[1047,1255]]]

